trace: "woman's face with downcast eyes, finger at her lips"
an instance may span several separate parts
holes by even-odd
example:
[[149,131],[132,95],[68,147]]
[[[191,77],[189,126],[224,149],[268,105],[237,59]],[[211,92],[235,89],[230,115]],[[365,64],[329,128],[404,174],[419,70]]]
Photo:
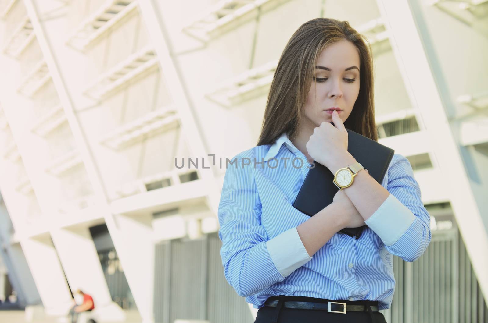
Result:
[[344,122],[359,95],[359,53],[351,42],[341,40],[320,54],[314,79],[305,103],[305,123],[312,129],[323,121],[332,121],[332,107],[338,107]]

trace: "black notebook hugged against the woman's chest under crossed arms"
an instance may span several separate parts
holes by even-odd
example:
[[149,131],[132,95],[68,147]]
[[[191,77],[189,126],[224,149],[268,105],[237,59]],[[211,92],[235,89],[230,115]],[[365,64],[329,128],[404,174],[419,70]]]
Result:
[[[395,151],[357,132],[346,130],[347,151],[381,184]],[[332,203],[334,195],[339,190],[333,180],[334,174],[324,165],[315,162],[315,167],[311,168],[305,177],[293,207],[310,217],[317,214]],[[365,227],[366,225],[344,228],[339,232],[358,239]]]

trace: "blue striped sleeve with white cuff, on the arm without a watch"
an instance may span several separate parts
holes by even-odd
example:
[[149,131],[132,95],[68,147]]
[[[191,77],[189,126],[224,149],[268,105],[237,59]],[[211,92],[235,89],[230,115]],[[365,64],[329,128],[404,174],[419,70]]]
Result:
[[229,165],[218,208],[220,254],[227,282],[250,296],[285,278],[308,262],[296,227],[269,239],[261,225],[261,200],[251,165]]

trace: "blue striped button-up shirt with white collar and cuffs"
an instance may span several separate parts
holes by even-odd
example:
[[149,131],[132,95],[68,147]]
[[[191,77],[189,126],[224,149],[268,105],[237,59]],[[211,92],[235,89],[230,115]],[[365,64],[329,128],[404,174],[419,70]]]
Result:
[[[300,162],[304,161],[303,163]],[[417,260],[430,239],[430,216],[408,160],[395,154],[382,186],[390,195],[359,239],[336,233],[312,257],[296,227],[309,216],[292,204],[312,164],[286,133],[239,153],[226,165],[218,208],[224,275],[254,308],[275,295],[378,301],[389,308],[393,255]]]

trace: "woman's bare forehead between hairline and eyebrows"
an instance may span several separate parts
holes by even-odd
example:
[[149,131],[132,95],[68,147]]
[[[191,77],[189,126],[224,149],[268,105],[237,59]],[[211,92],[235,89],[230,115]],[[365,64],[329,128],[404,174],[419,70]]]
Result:
[[[329,67],[332,71],[344,71],[345,68],[356,65],[359,67],[360,58],[357,47],[350,41],[341,40],[328,45],[317,59],[317,65]],[[357,71],[356,69],[354,69]]]

